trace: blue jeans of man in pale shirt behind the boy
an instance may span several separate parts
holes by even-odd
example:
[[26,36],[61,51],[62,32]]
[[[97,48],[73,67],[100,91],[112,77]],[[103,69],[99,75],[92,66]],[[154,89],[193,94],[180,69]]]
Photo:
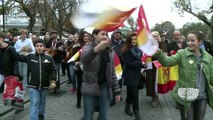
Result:
[[18,62],[18,72],[20,76],[23,78],[23,87],[24,90],[27,90],[27,63]]

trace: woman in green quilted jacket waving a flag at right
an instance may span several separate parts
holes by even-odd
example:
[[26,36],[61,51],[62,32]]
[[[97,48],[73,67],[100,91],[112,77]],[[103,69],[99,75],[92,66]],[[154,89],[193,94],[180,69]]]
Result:
[[[178,50],[170,57],[160,49],[155,54],[165,67],[178,65],[179,79],[171,94],[178,104],[181,120],[204,120],[207,103],[213,108],[213,60],[209,53],[200,48],[201,39],[199,32],[191,32],[187,36],[187,48]],[[194,93],[192,96],[195,96],[195,100],[181,97],[178,91],[186,88],[199,91],[198,96],[191,91],[191,94]],[[187,94],[184,96],[188,98]]]

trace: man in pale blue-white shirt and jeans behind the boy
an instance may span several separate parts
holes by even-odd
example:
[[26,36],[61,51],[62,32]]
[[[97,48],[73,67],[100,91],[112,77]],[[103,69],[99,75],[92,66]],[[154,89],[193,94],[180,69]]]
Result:
[[[14,45],[16,52],[20,55],[28,55],[35,53],[35,48],[31,39],[27,38],[27,30],[21,31],[20,39],[18,39]],[[19,74],[23,78],[24,90],[27,89],[27,64],[24,62],[18,62]]]

